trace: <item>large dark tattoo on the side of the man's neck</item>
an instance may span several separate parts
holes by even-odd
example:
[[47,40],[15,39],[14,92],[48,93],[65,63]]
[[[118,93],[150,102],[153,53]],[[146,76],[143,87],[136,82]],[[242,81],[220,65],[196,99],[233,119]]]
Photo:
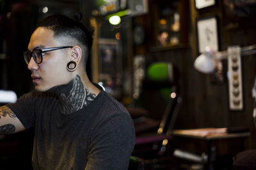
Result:
[[68,96],[61,94],[61,113],[68,115],[87,106],[96,95],[84,89],[80,76],[76,75]]

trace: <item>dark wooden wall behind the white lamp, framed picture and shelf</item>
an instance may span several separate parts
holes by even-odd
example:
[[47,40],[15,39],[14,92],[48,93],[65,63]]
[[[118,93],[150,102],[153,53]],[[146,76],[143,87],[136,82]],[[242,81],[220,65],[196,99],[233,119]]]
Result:
[[[216,5],[196,10],[195,1],[189,3],[186,22],[188,22],[188,45],[177,48],[152,50],[154,46],[154,13],[157,1],[149,1],[149,13],[134,17],[146,28],[145,43],[134,46],[134,55],[146,55],[147,62],[170,61],[179,70],[180,90],[184,99],[175,129],[198,127],[248,127],[251,135],[246,141],[246,148],[255,148],[255,126],[253,125],[252,87],[256,76],[256,55],[242,57],[243,99],[244,109],[232,111],[228,107],[227,60],[223,60],[223,75],[225,80],[214,81],[211,74],[199,73],[193,67],[198,53],[196,20],[199,18],[217,16],[220,51],[227,50],[230,45],[248,46],[256,44],[255,16],[229,16],[223,1]],[[180,1],[181,2],[181,1]],[[188,1],[187,1],[188,2]],[[152,100],[151,104],[156,101]]]

